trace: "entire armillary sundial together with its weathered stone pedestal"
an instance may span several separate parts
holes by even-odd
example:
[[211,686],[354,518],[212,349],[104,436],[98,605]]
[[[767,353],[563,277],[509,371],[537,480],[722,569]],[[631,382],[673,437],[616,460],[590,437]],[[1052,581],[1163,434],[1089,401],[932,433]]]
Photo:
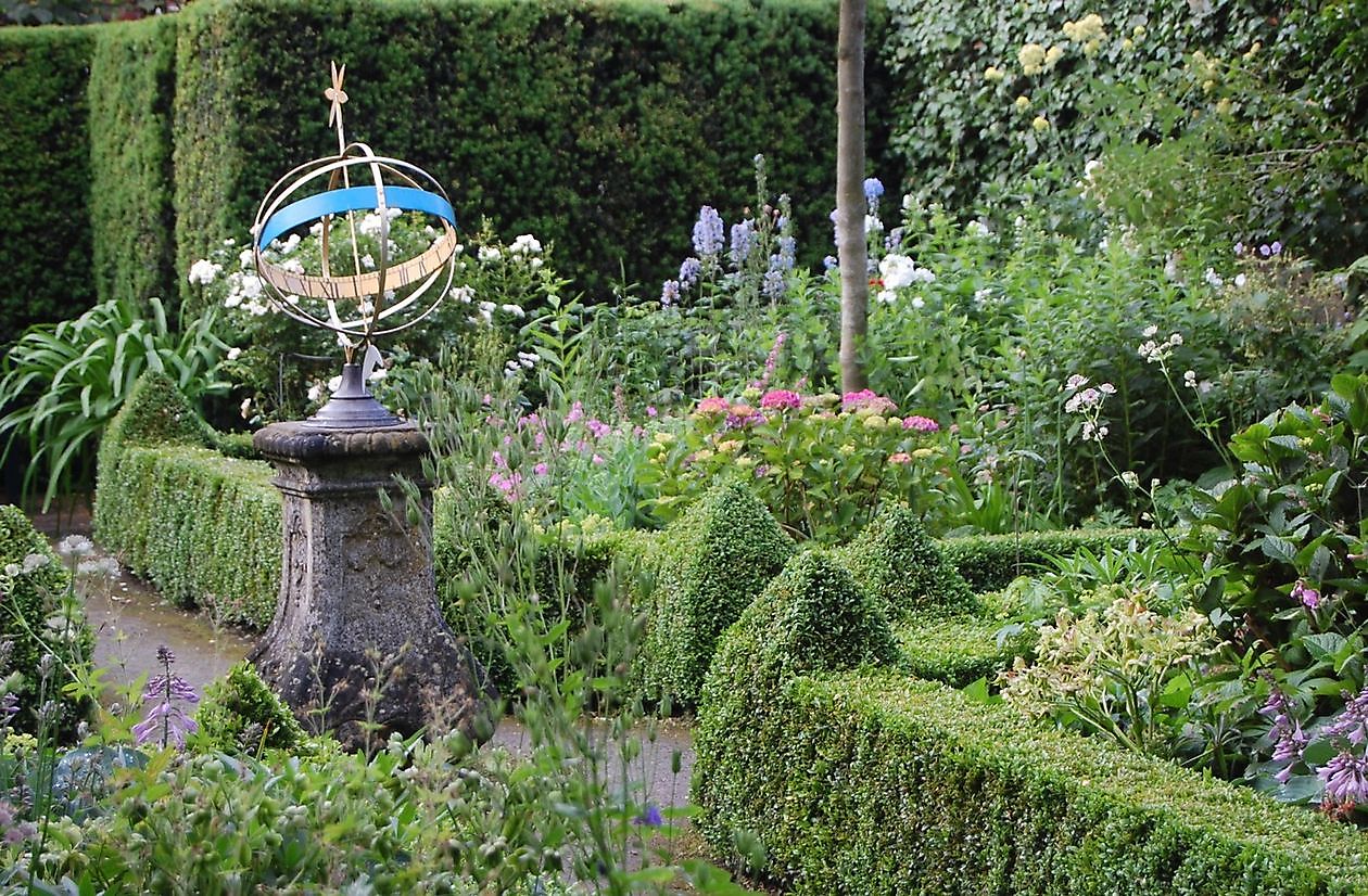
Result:
[[[483,739],[492,688],[436,604],[432,484],[423,471],[431,445],[365,388],[373,340],[431,314],[450,285],[456,214],[421,168],[346,141],[343,74],[334,64],[327,90],[338,154],[276,182],[253,229],[267,294],[294,320],[335,332],[346,363],[342,387],[315,417],[252,437],[275,467],[283,542],[280,597],[252,661],[295,714],[315,718],[323,708],[345,744],[451,729]],[[431,227],[434,240],[410,258],[391,257],[394,209],[430,221],[413,221],[420,232]],[[320,234],[313,270],[298,260],[304,253],[272,247],[300,228]],[[379,257],[373,268],[358,236]]]

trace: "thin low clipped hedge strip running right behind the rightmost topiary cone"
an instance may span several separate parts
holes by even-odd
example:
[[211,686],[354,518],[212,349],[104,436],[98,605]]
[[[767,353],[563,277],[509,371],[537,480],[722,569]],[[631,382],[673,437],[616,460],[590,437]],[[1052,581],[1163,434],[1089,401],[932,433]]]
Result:
[[1140,548],[1160,537],[1153,529],[1073,529],[945,538],[940,549],[970,587],[982,593],[1007,587],[1018,575],[1044,567],[1051,557],[1067,557],[1085,548],[1093,553],[1108,548]]

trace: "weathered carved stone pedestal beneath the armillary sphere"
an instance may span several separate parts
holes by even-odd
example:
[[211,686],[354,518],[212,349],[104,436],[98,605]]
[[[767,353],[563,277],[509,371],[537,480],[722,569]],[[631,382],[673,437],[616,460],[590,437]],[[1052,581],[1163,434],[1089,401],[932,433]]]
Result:
[[352,747],[367,721],[379,725],[371,743],[419,728],[487,736],[492,690],[436,605],[431,485],[420,482],[413,526],[394,481],[421,479],[427,437],[412,423],[291,422],[253,443],[285,494],[280,600],[252,653],[261,676],[306,728],[321,720]]

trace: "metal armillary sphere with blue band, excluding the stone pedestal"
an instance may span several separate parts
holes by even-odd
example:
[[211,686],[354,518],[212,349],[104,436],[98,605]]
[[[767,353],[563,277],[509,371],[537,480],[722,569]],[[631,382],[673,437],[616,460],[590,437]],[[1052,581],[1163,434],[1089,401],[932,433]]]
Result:
[[[252,253],[271,302],[301,324],[338,333],[346,354],[341,388],[308,423],[387,426],[398,423],[398,418],[367,389],[367,365],[379,356],[372,346],[380,336],[413,326],[442,302],[456,273],[456,212],[432,175],[410,163],[376,156],[365,143],[347,142],[342,126],[345,75],[346,66],[332,63],[332,86],[324,92],[332,104],[328,126],[337,128],[338,154],[304,163],[276,180],[257,209]],[[438,236],[427,251],[412,258],[390,257],[390,216],[395,210],[421,212],[435,220]],[[375,260],[358,247],[358,213],[373,214],[379,223],[379,261],[373,269],[364,262]],[[321,257],[316,273],[271,258],[268,250],[275,240],[319,227]]]

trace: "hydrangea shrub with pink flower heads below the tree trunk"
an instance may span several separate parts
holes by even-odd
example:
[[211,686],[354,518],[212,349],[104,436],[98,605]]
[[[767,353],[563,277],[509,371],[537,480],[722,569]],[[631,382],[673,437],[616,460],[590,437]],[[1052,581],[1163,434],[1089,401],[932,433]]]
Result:
[[844,541],[884,500],[922,501],[934,488],[944,448],[936,421],[897,415],[873,392],[800,396],[791,389],[748,391],[740,402],[707,397],[684,429],[661,432],[643,474],[659,497],[653,509],[672,519],[715,482],[741,478],[785,531]]

